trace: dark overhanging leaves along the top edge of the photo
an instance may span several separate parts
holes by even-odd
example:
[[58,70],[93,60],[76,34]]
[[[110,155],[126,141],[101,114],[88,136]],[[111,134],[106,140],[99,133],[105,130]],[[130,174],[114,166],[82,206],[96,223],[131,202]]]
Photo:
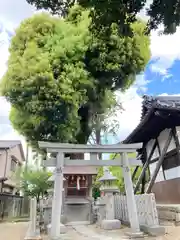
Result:
[[[164,33],[174,33],[180,24],[180,1],[178,0],[26,0],[37,9],[46,9],[52,14],[65,16],[69,9],[78,3],[90,9],[92,26],[96,30],[106,29],[112,23],[119,25],[123,34],[127,33],[131,23],[136,21],[137,13],[146,8],[149,21],[148,32],[164,25]],[[151,3],[150,5],[148,3]],[[146,5],[149,5],[146,7]]]

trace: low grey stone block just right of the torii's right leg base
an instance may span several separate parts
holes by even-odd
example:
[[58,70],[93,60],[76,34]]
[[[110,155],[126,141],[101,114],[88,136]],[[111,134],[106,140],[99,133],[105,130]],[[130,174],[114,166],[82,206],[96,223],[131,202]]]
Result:
[[165,235],[166,233],[165,227],[160,225],[157,226],[141,225],[141,230],[153,237],[162,236]]

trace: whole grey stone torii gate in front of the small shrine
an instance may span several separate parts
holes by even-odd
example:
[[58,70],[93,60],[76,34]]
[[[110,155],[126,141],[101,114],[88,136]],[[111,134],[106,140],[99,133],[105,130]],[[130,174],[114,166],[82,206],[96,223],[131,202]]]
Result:
[[[140,226],[133,191],[130,166],[142,165],[139,160],[128,158],[128,153],[135,152],[142,144],[114,144],[114,145],[85,145],[39,142],[39,147],[46,149],[48,153],[56,153],[57,157],[45,161],[45,166],[55,166],[55,183],[52,202],[51,239],[60,237],[60,218],[63,191],[63,167],[64,166],[120,166],[123,170],[127,206],[131,230],[140,233]],[[90,160],[70,160],[64,158],[65,153],[89,153]],[[98,160],[98,153],[119,153],[120,158],[114,160]]]

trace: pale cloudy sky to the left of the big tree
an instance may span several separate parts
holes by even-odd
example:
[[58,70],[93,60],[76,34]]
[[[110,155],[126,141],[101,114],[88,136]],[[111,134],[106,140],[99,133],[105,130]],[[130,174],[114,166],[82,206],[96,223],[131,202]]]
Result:
[[[0,79],[7,69],[9,38],[19,23],[30,17],[35,8],[29,5],[26,0],[0,1]],[[0,139],[21,140],[25,150],[25,140],[10,125],[9,122],[10,104],[0,97]]]

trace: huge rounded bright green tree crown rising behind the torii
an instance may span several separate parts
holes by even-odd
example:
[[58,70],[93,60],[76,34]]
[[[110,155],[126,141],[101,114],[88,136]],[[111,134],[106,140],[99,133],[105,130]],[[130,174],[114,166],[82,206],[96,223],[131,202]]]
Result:
[[128,88],[150,58],[145,24],[133,37],[92,35],[89,12],[74,7],[65,18],[37,14],[23,21],[10,45],[1,93],[11,103],[10,120],[32,144],[86,143],[92,119],[109,107],[117,89]]

